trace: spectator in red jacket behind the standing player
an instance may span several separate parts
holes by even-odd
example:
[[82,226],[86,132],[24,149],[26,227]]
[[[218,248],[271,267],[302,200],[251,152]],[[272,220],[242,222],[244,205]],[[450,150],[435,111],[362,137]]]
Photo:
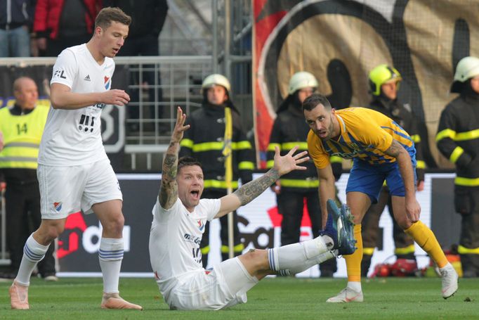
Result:
[[33,31],[40,56],[55,57],[91,39],[101,0],[37,0]]

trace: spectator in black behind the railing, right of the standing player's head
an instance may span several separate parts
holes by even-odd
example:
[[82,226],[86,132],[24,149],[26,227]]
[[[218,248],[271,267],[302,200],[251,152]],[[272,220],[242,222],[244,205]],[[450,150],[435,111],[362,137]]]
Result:
[[[113,6],[122,9],[131,16],[132,23],[128,41],[119,52],[119,56],[159,56],[158,37],[162,31],[166,14],[168,12],[168,3],[166,0],[103,0],[104,6]],[[155,68],[154,65],[143,65],[143,68]],[[143,118],[152,118],[154,120],[162,119],[163,108],[159,105],[163,100],[163,91],[159,87],[161,77],[159,70],[143,71],[143,82],[140,83],[139,73],[131,73],[131,84],[139,85],[140,89],[131,89],[130,96],[132,102],[140,103],[130,105],[128,108],[129,119],[128,129],[131,132],[140,129],[140,101],[139,90],[147,90],[147,101],[150,105],[150,115],[143,115]],[[157,87],[153,87],[153,86]],[[143,99],[142,99],[143,100]],[[166,130],[166,123],[159,122],[159,131]]]

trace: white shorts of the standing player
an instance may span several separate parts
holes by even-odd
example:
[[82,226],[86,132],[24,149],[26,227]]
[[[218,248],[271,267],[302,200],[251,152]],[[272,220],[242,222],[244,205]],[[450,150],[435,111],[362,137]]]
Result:
[[108,159],[70,167],[39,165],[37,177],[42,219],[63,219],[80,209],[88,214],[96,203],[123,200]]

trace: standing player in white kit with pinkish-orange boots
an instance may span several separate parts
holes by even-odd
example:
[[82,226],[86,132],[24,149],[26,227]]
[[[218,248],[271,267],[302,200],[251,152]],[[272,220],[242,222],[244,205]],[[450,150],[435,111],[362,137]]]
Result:
[[122,192],[103,148],[101,110],[125,105],[123,90],[111,89],[113,57],[122,48],[131,18],[119,8],[103,8],[86,44],[60,53],[53,66],[51,108],[39,150],[41,225],[29,236],[18,275],[9,290],[12,309],[29,309],[32,270],[65,229],[71,213],[95,212],[103,226],[99,260],[105,309],[142,309],[119,297],[124,243]]

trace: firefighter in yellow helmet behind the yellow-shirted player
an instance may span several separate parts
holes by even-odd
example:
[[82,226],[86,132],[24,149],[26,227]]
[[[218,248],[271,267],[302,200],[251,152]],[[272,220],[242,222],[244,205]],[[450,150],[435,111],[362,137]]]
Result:
[[[369,88],[372,101],[368,108],[376,110],[390,117],[400,127],[406,130],[414,141],[416,148],[416,179],[417,190],[424,190],[424,168],[426,167],[421,152],[421,138],[419,137],[416,118],[409,104],[398,102],[398,89],[402,80],[400,73],[389,65],[378,65],[369,72]],[[363,256],[361,262],[361,274],[367,276],[371,265],[371,258],[379,238],[379,219],[384,208],[388,206],[389,213],[393,217],[391,196],[386,184],[379,195],[378,203],[371,205],[365,218],[362,220],[362,245]],[[393,238],[397,260],[405,259],[414,264],[416,269],[416,256],[414,255],[414,240],[408,236],[393,218]]]

